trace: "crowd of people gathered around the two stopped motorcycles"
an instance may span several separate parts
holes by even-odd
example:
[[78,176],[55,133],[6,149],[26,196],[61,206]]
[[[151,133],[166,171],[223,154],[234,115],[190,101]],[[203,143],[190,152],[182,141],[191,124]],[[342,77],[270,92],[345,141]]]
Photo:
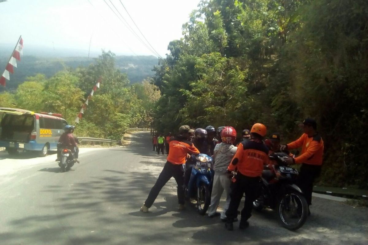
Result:
[[[171,177],[174,177],[177,182],[178,209],[183,210],[185,183],[191,173],[191,166],[186,166],[187,169],[184,169],[183,164],[187,162],[190,155],[201,153],[212,156],[215,173],[208,216],[211,218],[220,216],[227,230],[233,230],[233,223],[237,221],[238,207],[245,194],[239,228],[247,228],[253,202],[261,191],[262,172],[265,167],[272,170],[275,164],[270,161],[269,154],[300,147],[301,154],[286,159],[286,163],[301,164],[297,184],[309,207],[312,201],[313,181],[321,172],[324,146],[314,119],[305,119],[301,127],[302,136],[285,145],[280,144],[279,133],[270,134],[266,139],[267,129],[261,123],[255,123],[251,130],[244,129],[240,139],[237,138],[237,132],[231,126],[218,127],[216,130],[213,126],[193,129],[183,125],[179,128],[177,136],[171,136],[171,133],[168,133],[164,137],[162,133],[153,133],[153,151],[156,150],[157,154],[161,151],[164,154],[163,149],[166,145],[168,157],[158,180],[140,210],[148,212],[161,188]],[[219,213],[217,207],[224,191],[226,204],[223,212]],[[308,215],[310,215],[309,210]]]

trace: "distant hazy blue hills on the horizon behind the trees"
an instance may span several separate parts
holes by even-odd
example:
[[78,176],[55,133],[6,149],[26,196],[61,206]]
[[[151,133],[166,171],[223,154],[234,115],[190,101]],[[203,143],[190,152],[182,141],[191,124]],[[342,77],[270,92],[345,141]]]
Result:
[[[14,48],[14,47],[13,47]],[[11,49],[10,49],[11,50]],[[66,55],[83,55],[78,50],[65,50],[58,54],[47,53],[43,49],[42,53],[37,52],[38,49],[27,50],[27,54],[21,57],[18,62],[18,68],[15,68],[14,74],[10,74],[10,81],[7,82],[6,89],[13,90],[23,83],[26,77],[34,76],[37,73],[45,74],[47,77],[53,76],[55,73],[62,71],[65,67],[77,68],[79,66],[88,66],[94,62],[93,58],[88,57],[65,57]],[[0,45],[0,70],[4,71],[6,62],[9,59],[11,51]],[[53,52],[51,52],[53,53]],[[100,54],[100,53],[99,53]],[[87,54],[88,55],[88,54]],[[92,54],[97,57],[97,53]],[[151,77],[154,72],[153,66],[158,64],[158,58],[154,56],[116,56],[116,66],[121,72],[127,73],[131,83],[137,83],[147,77]],[[4,89],[0,89],[3,91]]]

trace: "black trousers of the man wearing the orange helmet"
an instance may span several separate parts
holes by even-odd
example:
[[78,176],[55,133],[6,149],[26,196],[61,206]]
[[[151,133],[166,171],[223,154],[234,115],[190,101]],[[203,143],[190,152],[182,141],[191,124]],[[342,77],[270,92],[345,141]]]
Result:
[[259,196],[260,191],[260,177],[248,177],[238,172],[236,175],[236,182],[231,183],[230,205],[226,211],[228,222],[233,222],[233,220],[238,216],[240,200],[244,193],[245,202],[244,208],[241,210],[240,221],[244,222],[248,220],[252,216],[253,202]]

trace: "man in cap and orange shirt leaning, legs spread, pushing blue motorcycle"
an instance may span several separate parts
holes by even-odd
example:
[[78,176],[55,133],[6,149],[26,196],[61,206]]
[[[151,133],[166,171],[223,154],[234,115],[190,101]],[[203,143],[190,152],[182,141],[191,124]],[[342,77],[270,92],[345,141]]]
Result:
[[170,140],[169,156],[167,156],[167,161],[162,172],[140,209],[142,212],[148,212],[148,209],[151,208],[162,187],[171,177],[174,177],[177,183],[178,210],[183,210],[185,208],[183,164],[187,159],[187,154],[199,154],[198,149],[189,141],[193,132],[194,130],[188,125],[183,125],[179,128],[179,135]]

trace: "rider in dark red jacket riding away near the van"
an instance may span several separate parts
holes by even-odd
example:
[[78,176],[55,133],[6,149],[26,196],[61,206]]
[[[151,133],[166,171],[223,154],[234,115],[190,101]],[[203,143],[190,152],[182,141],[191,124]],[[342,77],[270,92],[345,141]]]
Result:
[[75,140],[76,137],[73,135],[73,131],[75,129],[75,126],[73,125],[66,125],[64,127],[64,133],[61,134],[60,138],[59,138],[59,143],[57,144],[57,158],[56,158],[56,162],[60,161],[60,157],[61,157],[61,148],[63,147],[67,147],[68,149],[71,150],[71,152],[74,155],[74,162],[78,162],[78,154],[79,154],[79,148],[78,148],[78,139],[77,141]]

